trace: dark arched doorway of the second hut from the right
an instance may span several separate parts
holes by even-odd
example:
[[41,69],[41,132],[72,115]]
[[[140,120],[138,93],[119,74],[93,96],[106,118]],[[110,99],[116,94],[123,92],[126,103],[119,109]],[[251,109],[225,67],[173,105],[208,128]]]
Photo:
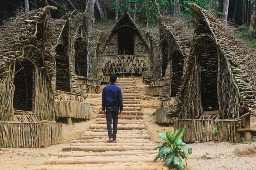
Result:
[[180,51],[172,53],[171,97],[176,97],[182,83],[184,57]]

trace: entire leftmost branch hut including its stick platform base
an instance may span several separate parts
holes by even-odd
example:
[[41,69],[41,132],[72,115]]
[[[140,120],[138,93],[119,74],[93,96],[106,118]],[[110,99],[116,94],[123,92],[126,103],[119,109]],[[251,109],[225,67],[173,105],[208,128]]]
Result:
[[54,120],[54,52],[63,29],[46,6],[18,14],[0,29],[0,147],[44,147],[62,143]]

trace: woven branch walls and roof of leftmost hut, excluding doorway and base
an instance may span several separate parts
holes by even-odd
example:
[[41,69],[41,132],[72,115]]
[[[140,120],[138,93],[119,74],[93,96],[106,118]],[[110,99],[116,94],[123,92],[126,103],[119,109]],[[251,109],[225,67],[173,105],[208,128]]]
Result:
[[[62,20],[51,20],[47,6],[18,14],[0,30],[0,120],[13,121],[15,63],[27,60],[34,70],[34,112],[37,119],[52,115],[51,78],[55,69],[54,48],[63,29]],[[44,25],[45,24],[45,25]],[[40,28],[40,29],[39,29]],[[30,84],[30,86],[33,86]]]

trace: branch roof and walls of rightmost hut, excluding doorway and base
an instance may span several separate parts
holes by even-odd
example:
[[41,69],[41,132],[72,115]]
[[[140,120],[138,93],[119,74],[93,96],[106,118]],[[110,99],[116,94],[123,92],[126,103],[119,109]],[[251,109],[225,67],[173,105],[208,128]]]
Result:
[[[178,113],[182,119],[199,118],[201,113],[197,86],[193,75],[196,70],[196,54],[204,45],[212,43],[218,51],[218,99],[222,119],[237,118],[247,111],[256,110],[256,86],[253,57],[244,50],[232,36],[231,29],[224,27],[222,22],[211,12],[196,4],[188,4],[196,13],[196,27],[190,51],[188,68],[181,86]],[[198,40],[202,40],[201,42]],[[199,85],[200,86],[200,85]],[[189,94],[189,95],[188,95]],[[243,111],[244,110],[244,111]]]

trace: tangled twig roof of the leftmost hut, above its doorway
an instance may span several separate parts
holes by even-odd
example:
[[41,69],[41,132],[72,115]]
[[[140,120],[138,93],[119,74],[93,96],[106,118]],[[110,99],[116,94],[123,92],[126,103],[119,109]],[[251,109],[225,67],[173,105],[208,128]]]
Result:
[[[40,54],[42,51],[42,25],[49,8],[55,7],[46,6],[24,14],[18,14],[0,28],[0,74],[8,69],[7,66],[14,62],[14,59],[26,58],[35,64],[42,59]],[[55,63],[51,55],[54,54],[54,46],[58,42],[64,25],[61,20],[50,18],[47,19],[45,24],[47,43],[44,58],[46,62],[49,62],[49,70],[53,71]],[[29,50],[31,53],[26,53]]]

